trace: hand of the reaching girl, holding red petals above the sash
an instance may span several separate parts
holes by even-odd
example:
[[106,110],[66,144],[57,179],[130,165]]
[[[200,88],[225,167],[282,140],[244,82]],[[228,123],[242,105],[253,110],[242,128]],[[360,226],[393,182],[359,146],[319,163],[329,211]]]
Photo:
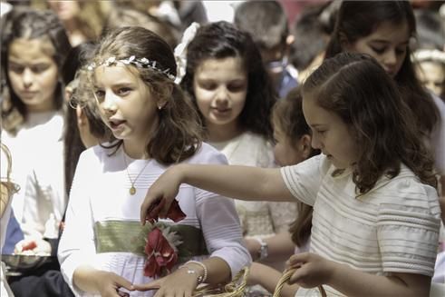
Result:
[[169,208],[179,192],[182,182],[181,165],[170,167],[150,186],[140,205],[140,223],[145,224],[148,218],[165,218]]

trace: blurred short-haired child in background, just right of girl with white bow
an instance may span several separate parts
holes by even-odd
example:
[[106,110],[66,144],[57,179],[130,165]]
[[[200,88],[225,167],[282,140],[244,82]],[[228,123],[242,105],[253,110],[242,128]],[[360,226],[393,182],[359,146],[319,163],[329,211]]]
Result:
[[271,75],[280,98],[296,85],[297,72],[289,64],[294,36],[289,34],[287,16],[278,1],[246,1],[237,5],[234,24],[252,36]]

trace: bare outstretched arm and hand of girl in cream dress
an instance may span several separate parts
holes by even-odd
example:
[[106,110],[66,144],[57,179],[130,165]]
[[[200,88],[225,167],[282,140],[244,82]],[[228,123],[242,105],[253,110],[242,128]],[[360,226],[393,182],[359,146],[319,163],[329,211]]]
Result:
[[165,204],[160,210],[160,217],[165,217],[181,183],[240,200],[295,201],[277,168],[179,164],[169,168],[151,185],[140,208],[141,223],[145,223],[152,204],[161,199],[165,200]]

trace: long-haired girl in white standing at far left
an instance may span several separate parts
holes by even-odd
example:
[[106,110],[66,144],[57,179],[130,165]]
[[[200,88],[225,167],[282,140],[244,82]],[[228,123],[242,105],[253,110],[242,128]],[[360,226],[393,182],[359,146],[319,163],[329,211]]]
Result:
[[[13,211],[26,234],[33,233],[34,226],[23,221],[24,208],[28,207],[23,199],[25,179],[36,159],[47,164],[47,172],[40,176],[44,181],[41,189],[63,193],[61,69],[71,45],[57,15],[22,7],[7,15],[2,37],[2,67],[8,91],[2,106],[2,143],[11,151],[12,176],[22,189],[13,201]],[[60,222],[66,195],[56,197],[51,204],[50,213]],[[41,223],[48,219],[41,217]],[[6,244],[12,250],[15,243],[14,237],[8,236]]]

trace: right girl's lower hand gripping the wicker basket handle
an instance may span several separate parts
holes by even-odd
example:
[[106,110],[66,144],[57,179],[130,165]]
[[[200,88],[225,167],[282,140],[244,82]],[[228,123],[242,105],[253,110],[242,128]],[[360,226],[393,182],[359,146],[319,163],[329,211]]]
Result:
[[297,253],[289,258],[288,266],[297,268],[289,279],[303,288],[314,288],[329,283],[334,274],[335,263],[312,252]]

